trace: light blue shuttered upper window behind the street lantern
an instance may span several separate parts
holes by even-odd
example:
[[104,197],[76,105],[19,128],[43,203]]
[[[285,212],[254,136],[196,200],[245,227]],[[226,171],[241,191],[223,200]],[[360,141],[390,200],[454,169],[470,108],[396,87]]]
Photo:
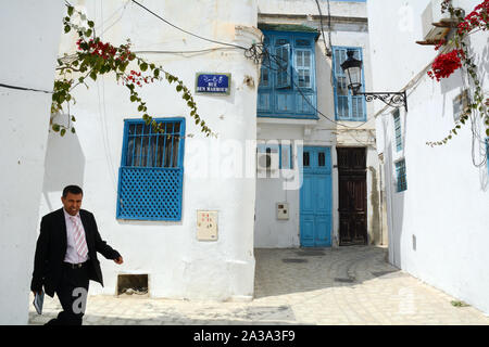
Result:
[[[353,97],[348,89],[348,78],[341,68],[347,60],[347,52],[353,51],[354,57],[363,61],[360,47],[334,47],[333,48],[333,79],[335,83],[335,115],[336,120],[365,121],[366,104],[363,95]],[[362,66],[363,69],[363,66]],[[362,76],[363,76],[362,72]],[[363,78],[363,77],[362,77]],[[362,80],[361,91],[364,91],[365,82]]]

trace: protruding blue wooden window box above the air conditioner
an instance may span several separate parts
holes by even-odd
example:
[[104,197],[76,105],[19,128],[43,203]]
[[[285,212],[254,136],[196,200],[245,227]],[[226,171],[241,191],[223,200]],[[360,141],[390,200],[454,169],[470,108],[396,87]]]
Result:
[[316,31],[265,30],[258,116],[318,119],[315,78]]

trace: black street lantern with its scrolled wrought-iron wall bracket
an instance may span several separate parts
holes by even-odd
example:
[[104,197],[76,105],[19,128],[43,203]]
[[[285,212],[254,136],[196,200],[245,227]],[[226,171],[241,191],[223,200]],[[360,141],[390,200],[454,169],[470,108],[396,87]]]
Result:
[[341,64],[341,68],[348,77],[348,88],[351,89],[353,95],[364,95],[366,102],[373,100],[380,100],[389,106],[402,106],[404,105],[408,112],[408,97],[405,91],[401,92],[359,92],[362,87],[362,61],[359,61],[353,56],[355,52],[349,50],[347,52],[348,59]]

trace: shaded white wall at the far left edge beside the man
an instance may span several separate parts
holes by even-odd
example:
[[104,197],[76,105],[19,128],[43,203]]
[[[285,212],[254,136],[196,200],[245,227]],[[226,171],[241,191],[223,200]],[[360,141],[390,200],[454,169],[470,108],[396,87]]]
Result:
[[[62,1],[0,2],[0,82],[50,91]],[[0,324],[27,324],[51,94],[0,87]]]

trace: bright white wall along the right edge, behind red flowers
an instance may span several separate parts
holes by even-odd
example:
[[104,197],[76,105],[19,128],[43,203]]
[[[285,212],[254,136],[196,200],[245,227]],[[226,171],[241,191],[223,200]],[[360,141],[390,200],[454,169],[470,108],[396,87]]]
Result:
[[[479,2],[459,3],[469,13]],[[391,110],[383,112],[376,120],[377,137],[383,144],[379,152],[384,152],[386,163],[389,261],[488,313],[487,165],[473,164],[471,125],[446,145],[425,144],[443,139],[454,127],[453,99],[463,89],[462,75],[457,72],[437,82],[423,73],[436,56],[434,47],[415,43],[423,39],[421,14],[428,1],[367,3],[374,88],[400,90],[422,73],[408,92],[409,113],[401,112],[405,143],[402,152],[396,152]],[[473,35],[471,44],[487,95],[487,31]],[[479,120],[477,131],[485,138]],[[480,162],[485,154],[482,143],[476,142],[475,153],[475,160]],[[408,190],[397,193],[393,162],[401,157],[406,163]]]

